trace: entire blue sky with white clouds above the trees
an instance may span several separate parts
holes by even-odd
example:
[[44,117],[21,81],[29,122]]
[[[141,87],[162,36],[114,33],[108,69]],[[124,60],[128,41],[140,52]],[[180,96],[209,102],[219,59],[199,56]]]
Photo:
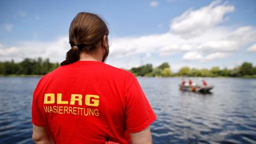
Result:
[[65,59],[78,12],[110,29],[109,65],[232,68],[256,60],[256,1],[1,1],[0,61]]

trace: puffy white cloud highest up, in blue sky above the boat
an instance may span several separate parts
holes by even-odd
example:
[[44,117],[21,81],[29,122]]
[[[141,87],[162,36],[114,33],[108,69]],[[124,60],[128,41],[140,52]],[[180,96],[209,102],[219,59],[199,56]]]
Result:
[[172,20],[171,31],[184,35],[198,35],[221,23],[225,14],[235,10],[232,5],[213,1],[198,10],[189,9]]

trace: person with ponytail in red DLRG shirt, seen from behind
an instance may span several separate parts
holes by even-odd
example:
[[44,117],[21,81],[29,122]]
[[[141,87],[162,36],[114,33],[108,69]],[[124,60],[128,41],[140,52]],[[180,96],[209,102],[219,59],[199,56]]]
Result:
[[105,63],[108,34],[96,14],[73,19],[66,60],[33,93],[35,143],[153,143],[149,126],[156,115],[137,78]]

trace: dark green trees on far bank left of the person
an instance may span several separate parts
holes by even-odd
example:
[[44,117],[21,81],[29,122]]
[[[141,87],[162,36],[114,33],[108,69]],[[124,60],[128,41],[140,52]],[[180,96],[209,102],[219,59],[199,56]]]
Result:
[[49,58],[25,58],[21,62],[14,62],[12,59],[0,62],[0,75],[45,75],[59,66],[58,62],[51,63]]

